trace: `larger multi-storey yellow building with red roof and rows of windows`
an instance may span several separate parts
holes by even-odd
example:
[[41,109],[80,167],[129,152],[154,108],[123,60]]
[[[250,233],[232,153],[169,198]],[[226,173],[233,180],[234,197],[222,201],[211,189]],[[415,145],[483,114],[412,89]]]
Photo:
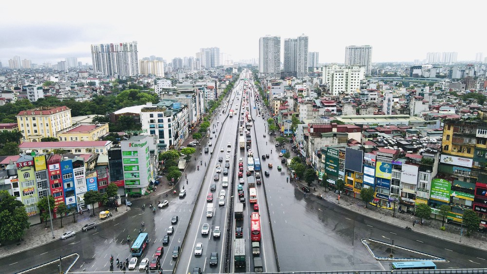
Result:
[[19,131],[24,136],[23,142],[40,142],[45,137],[57,138],[57,132],[72,126],[71,109],[66,106],[22,110],[15,117]]

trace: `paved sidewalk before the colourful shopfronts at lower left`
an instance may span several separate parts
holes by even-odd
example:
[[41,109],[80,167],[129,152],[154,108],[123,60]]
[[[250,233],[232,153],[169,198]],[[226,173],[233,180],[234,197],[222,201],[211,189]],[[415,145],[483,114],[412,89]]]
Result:
[[25,231],[25,235],[19,243],[17,244],[12,243],[0,247],[0,257],[16,254],[55,241],[59,239],[66,231],[71,230],[74,231],[76,234],[81,233],[82,232],[81,227],[83,227],[83,225],[90,222],[96,222],[96,224],[99,225],[103,222],[117,218],[129,212],[130,207],[126,207],[125,205],[122,205],[118,208],[118,211],[115,211],[113,208],[111,208],[110,212],[113,214],[113,216],[104,220],[101,220],[98,216],[98,213],[101,211],[101,209],[104,208],[101,207],[101,208],[94,209],[94,213],[96,214],[94,217],[90,217],[90,215],[93,214],[93,209],[90,210],[89,212],[85,211],[84,214],[75,213],[75,219],[76,219],[75,223],[73,222],[72,214],[70,214],[69,216],[65,216],[62,219],[62,225],[63,225],[62,228],[61,228],[61,219],[54,219],[53,220],[54,237],[55,237],[54,239],[53,239],[53,233],[51,232],[50,221],[47,222],[47,227],[45,225],[46,224],[45,222],[31,225],[29,229]]

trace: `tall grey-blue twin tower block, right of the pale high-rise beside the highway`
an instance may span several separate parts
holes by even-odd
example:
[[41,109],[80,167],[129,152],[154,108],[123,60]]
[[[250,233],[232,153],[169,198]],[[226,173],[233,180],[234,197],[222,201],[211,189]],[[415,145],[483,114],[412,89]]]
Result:
[[308,75],[308,37],[284,40],[284,76],[302,78]]

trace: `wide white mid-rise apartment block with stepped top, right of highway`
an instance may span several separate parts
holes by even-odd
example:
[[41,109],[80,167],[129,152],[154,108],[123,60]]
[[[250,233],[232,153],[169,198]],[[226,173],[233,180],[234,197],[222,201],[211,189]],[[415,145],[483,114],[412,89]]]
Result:
[[365,69],[359,66],[327,65],[321,68],[323,84],[328,84],[330,94],[338,96],[360,91],[360,82],[365,79]]

